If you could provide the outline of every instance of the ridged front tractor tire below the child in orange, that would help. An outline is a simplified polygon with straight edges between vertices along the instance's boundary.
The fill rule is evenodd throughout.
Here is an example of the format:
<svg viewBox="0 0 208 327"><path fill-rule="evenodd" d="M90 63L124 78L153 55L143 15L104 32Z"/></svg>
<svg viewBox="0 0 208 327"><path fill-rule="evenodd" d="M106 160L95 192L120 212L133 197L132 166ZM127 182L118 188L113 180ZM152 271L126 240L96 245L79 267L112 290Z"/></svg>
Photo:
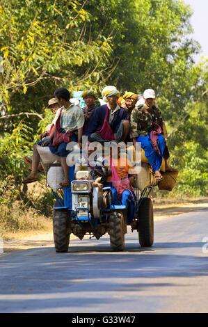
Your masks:
<svg viewBox="0 0 208 327"><path fill-rule="evenodd" d="M122 251L125 248L125 220L121 213L114 212L109 219L111 249Z"/></svg>

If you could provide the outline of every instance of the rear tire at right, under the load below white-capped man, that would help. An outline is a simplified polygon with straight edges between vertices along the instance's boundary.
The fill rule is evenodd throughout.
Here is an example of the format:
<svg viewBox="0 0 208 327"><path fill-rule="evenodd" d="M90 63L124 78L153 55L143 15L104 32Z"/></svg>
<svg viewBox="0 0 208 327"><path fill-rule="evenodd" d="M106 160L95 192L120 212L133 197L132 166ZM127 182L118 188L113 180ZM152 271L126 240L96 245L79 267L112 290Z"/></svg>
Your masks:
<svg viewBox="0 0 208 327"><path fill-rule="evenodd" d="M154 216L150 198L143 198L138 208L138 241L143 247L152 246L154 242Z"/></svg>

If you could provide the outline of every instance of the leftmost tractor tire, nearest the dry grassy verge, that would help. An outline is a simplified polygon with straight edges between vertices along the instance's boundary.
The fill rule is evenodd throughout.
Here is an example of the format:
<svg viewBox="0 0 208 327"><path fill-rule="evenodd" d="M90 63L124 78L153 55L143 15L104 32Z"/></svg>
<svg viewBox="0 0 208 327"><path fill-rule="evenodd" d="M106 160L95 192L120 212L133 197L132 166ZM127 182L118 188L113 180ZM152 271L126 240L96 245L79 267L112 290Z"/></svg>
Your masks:
<svg viewBox="0 0 208 327"><path fill-rule="evenodd" d="M70 243L70 216L67 210L55 210L53 214L54 245L56 252L67 252Z"/></svg>

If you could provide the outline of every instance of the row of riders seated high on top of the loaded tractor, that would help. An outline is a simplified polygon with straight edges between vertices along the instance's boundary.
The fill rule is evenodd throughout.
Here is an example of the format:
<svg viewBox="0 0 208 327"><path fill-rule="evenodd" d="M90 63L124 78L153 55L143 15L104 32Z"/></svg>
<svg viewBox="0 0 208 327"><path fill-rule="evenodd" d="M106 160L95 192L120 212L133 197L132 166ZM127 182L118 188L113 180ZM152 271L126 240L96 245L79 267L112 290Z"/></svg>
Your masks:
<svg viewBox="0 0 208 327"><path fill-rule="evenodd" d="M54 99L49 100L49 108L55 113L55 118L49 131L41 134L38 145L49 146L50 151L61 158L65 173L61 186L69 184L67 143L77 141L81 147L82 136L88 136L90 142L133 141L134 145L141 142L156 179L162 180L159 168L162 158L167 160L169 154L163 137L161 111L155 106L154 90L145 90L143 99L138 101L135 93L126 92L120 97L114 86L106 86L102 90L106 104L102 106L95 90L86 90L82 93L86 104L84 109L70 102L70 92L66 88L58 88L54 96ZM38 168L40 156L34 145L31 173L23 181L24 184L38 180Z"/></svg>

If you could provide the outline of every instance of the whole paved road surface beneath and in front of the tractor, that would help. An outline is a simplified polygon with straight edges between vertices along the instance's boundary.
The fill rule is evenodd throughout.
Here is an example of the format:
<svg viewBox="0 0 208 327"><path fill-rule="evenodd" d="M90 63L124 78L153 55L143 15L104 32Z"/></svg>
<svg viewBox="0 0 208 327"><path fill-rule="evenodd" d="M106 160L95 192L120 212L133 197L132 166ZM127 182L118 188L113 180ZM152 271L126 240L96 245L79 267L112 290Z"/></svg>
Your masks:
<svg viewBox="0 0 208 327"><path fill-rule="evenodd" d="M122 253L106 236L1 255L0 312L208 312L207 222L208 209L156 221L152 248L129 230Z"/></svg>

